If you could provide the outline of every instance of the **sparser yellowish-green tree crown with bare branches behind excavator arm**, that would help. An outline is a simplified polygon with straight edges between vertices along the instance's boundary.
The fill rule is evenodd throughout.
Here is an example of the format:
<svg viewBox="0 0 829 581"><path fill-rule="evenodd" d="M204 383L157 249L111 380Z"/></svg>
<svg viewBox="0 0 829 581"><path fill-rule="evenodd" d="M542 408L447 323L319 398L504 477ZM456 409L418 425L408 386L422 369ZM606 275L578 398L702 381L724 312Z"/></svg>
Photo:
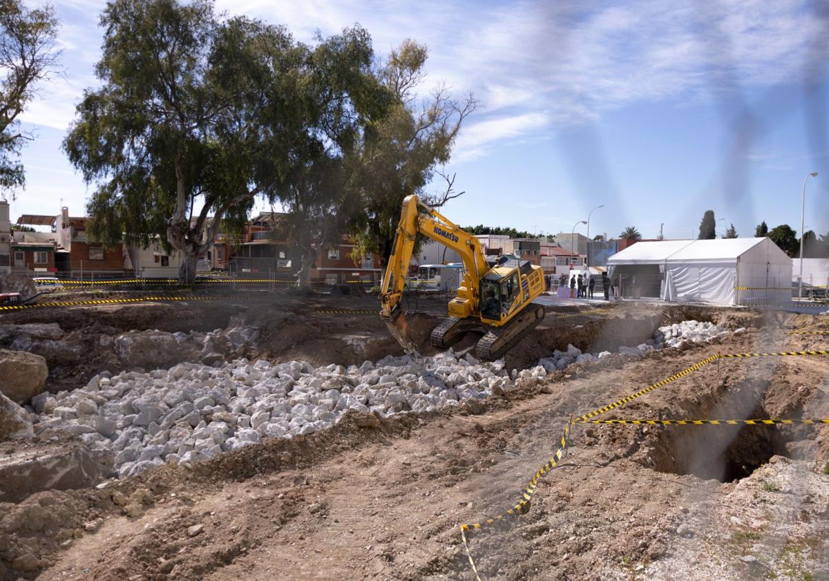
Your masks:
<svg viewBox="0 0 829 581"><path fill-rule="evenodd" d="M435 202L424 188L435 168L448 162L463 120L477 107L471 95L459 102L444 86L418 99L427 57L426 47L410 40L391 51L377 77L394 100L385 116L366 124L346 156L352 199L361 208L350 225L353 254L378 254L384 266L403 199L418 194L426 203Z"/></svg>

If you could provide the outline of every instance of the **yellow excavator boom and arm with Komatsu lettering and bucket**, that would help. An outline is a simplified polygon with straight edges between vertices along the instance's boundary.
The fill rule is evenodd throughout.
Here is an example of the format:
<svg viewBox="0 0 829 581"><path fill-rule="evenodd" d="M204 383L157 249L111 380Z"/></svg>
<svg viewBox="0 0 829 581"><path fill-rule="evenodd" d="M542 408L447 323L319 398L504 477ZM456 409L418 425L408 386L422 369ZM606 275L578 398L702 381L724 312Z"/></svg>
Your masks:
<svg viewBox="0 0 829 581"><path fill-rule="evenodd" d="M438 211L426 206L419 201L418 196L405 197L400 212L400 223L397 225L395 245L383 276L381 316L392 336L407 353L416 353L416 349L400 303L409 276L414 240L418 233L455 250L463 261L463 285L458 288L458 297L449 303L449 314L453 317L479 314L478 286L482 275L489 268L481 246L473 235L447 220Z"/></svg>

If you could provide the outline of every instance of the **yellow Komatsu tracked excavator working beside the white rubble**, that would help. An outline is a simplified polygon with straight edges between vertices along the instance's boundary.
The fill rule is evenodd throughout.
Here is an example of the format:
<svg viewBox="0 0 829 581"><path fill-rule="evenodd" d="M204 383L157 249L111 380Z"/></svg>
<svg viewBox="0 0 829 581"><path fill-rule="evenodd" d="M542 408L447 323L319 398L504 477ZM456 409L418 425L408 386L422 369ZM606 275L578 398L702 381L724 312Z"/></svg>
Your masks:
<svg viewBox="0 0 829 581"><path fill-rule="evenodd" d="M418 234L458 252L465 271L458 296L449 301L448 318L432 331L432 345L445 349L468 333L476 333L482 335L475 347L476 356L493 361L544 318L544 307L532 303L544 292L541 267L511 255L484 255L473 235L417 196L406 196L383 277L381 317L407 353L416 353L416 349L401 302Z"/></svg>

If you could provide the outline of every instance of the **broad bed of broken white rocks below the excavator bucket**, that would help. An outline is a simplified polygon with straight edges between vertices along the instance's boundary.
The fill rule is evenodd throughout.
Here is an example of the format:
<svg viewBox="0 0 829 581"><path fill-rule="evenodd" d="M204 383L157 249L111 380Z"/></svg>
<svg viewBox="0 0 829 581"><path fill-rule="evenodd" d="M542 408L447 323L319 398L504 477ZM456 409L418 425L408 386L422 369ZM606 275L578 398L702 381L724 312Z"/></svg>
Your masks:
<svg viewBox="0 0 829 581"><path fill-rule="evenodd" d="M240 343L242 341L239 341ZM522 377L543 377L538 366ZM349 409L388 416L485 399L511 380L504 361L478 362L450 349L434 357L385 357L361 366L237 359L169 370L102 373L78 390L32 399L35 431L76 433L114 454L120 476L164 462L194 462L261 438L328 428Z"/></svg>

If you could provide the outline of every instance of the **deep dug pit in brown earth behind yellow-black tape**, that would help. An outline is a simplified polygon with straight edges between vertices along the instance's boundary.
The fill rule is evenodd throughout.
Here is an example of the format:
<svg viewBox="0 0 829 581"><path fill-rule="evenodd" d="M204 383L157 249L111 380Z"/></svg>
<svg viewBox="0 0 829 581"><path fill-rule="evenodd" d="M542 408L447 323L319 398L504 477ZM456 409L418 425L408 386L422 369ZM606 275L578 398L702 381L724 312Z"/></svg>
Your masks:
<svg viewBox="0 0 829 581"><path fill-rule="evenodd" d="M727 380L715 395L698 403L680 402L683 419L770 419L764 400L768 380ZM670 426L657 430L647 463L657 472L693 474L703 480L734 482L751 475L773 456L791 458L784 430L777 425Z"/></svg>

